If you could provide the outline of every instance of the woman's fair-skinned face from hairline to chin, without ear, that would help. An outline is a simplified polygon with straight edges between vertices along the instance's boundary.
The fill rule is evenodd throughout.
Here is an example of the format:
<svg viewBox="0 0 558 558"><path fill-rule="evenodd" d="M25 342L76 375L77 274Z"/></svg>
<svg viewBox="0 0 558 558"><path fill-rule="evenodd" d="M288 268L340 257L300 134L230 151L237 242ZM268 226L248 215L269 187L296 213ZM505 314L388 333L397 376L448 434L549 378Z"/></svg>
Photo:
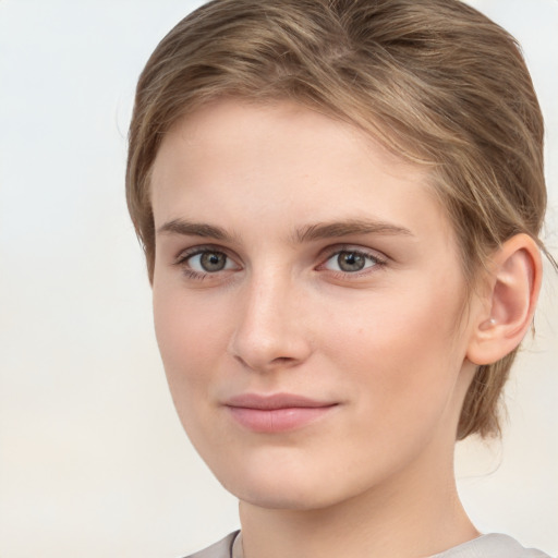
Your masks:
<svg viewBox="0 0 558 558"><path fill-rule="evenodd" d="M424 170L291 104L219 101L153 171L157 339L242 500L318 508L451 463L464 280Z"/></svg>

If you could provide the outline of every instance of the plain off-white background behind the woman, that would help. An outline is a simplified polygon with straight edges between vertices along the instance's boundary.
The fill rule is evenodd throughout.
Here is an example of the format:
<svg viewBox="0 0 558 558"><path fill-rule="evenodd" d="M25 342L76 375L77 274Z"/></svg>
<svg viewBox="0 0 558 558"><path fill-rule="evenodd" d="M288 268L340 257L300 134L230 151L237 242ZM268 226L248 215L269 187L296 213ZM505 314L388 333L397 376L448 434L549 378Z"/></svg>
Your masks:
<svg viewBox="0 0 558 558"><path fill-rule="evenodd" d="M171 558L238 526L174 415L124 204L137 75L199 2L0 0L0 556ZM558 246L558 1L476 0L523 45ZM549 270L548 266L547 269ZM549 270L550 271L550 270ZM458 448L483 531L558 554L558 277L504 440Z"/></svg>

